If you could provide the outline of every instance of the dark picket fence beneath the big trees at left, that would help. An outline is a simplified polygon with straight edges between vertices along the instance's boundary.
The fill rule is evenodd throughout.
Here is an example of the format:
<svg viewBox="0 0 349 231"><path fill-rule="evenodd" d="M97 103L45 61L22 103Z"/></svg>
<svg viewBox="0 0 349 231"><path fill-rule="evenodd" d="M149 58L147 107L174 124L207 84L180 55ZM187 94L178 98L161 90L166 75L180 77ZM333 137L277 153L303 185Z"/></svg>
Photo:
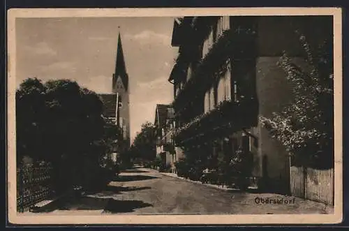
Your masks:
<svg viewBox="0 0 349 231"><path fill-rule="evenodd" d="M29 211L52 193L52 167L17 167L17 211Z"/></svg>

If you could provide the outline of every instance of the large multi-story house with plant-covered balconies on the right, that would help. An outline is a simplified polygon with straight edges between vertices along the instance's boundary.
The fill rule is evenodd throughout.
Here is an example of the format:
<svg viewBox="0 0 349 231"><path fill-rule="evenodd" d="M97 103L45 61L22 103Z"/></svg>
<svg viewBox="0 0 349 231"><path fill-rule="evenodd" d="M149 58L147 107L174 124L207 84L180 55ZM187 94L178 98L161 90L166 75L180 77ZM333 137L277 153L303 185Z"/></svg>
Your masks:
<svg viewBox="0 0 349 231"><path fill-rule="evenodd" d="M315 44L331 17L223 16L174 20L172 46L179 47L169 81L174 85L177 155L187 147L209 158L232 156L240 147L253 154L260 187L288 193L290 163L284 147L270 137L259 117L292 102L283 51L306 66L299 33Z"/></svg>

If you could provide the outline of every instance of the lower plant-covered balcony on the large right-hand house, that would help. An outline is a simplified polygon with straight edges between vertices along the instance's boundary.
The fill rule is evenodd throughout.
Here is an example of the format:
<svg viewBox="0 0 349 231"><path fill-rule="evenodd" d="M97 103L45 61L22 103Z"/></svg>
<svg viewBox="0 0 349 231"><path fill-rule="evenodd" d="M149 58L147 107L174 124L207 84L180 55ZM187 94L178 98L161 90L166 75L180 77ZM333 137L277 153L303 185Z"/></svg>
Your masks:
<svg viewBox="0 0 349 231"><path fill-rule="evenodd" d="M229 135L242 128L255 126L258 118L256 99L241 102L223 101L214 110L210 110L174 133L177 144L211 140L211 137Z"/></svg>

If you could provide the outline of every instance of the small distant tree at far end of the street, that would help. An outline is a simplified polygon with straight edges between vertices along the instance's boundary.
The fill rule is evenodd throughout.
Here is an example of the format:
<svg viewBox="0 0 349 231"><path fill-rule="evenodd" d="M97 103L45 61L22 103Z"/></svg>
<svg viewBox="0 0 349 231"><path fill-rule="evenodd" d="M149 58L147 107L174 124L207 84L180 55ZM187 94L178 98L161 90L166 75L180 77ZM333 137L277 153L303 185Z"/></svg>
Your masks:
<svg viewBox="0 0 349 231"><path fill-rule="evenodd" d="M155 126L148 121L142 124L142 129L136 135L131 146L133 158L142 158L146 161L154 160L156 156L155 129Z"/></svg>

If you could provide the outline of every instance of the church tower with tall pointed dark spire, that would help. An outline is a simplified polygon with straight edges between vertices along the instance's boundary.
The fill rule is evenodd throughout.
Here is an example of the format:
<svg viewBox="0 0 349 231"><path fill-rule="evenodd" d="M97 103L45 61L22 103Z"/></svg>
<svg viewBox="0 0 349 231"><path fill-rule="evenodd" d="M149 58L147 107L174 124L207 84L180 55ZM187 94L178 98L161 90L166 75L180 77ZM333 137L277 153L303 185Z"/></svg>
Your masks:
<svg viewBox="0 0 349 231"><path fill-rule="evenodd" d="M124 149L130 147L130 109L129 109L129 86L128 74L122 50L121 35L119 33L117 43L117 55L115 61L115 70L112 75L112 93L119 96L119 113L117 115L117 124L122 128L124 136Z"/></svg>

